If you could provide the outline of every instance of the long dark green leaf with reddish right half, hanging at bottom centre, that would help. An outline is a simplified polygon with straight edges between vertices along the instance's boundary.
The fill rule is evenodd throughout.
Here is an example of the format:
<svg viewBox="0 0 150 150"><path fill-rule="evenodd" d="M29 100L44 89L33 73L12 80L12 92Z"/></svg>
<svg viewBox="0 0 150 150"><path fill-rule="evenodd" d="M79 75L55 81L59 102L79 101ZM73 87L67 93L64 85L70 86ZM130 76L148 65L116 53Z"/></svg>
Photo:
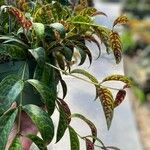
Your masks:
<svg viewBox="0 0 150 150"><path fill-rule="evenodd" d="M57 101L57 104L59 106L59 123L58 123L58 129L57 129L57 139L56 142L58 142L63 135L65 134L65 131L71 121L70 119L70 109L63 100Z"/></svg>

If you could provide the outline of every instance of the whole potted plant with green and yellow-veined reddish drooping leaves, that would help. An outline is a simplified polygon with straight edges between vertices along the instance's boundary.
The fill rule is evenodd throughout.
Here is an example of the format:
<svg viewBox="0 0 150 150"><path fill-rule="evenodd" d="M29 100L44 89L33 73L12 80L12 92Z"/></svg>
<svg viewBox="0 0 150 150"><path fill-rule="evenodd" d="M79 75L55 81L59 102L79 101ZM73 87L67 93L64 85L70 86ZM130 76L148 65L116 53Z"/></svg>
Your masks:
<svg viewBox="0 0 150 150"><path fill-rule="evenodd" d="M90 120L70 112L64 100L67 85L63 76L73 76L95 85L96 99L101 101L109 129L114 108L123 101L125 88L131 85L130 80L123 75L110 75L99 82L86 70L72 69L76 63L73 58L80 60L79 66L84 64L86 57L91 64L92 54L85 40L96 43L100 50L96 38L99 37L107 52L114 53L118 64L121 61L121 42L114 27L126 23L127 18L118 17L112 29L97 25L93 17L106 14L88 7L86 0L80 0L75 6L67 0L3 2L0 15L0 150L22 149L24 138L26 142L29 142L28 139L33 141L41 150L47 149L54 137L51 119L54 110L60 114L56 142L68 129L71 150L79 149L79 137L86 141L88 150L94 149L96 140L100 142L101 149L109 149L97 137L96 127ZM116 89L118 93L115 98L110 89L103 85L111 80L125 83L122 89ZM59 83L62 85L62 98L57 95ZM89 125L91 136L81 137L76 133L70 126L74 117ZM16 132L9 141L13 126ZM26 132L24 126L32 130ZM37 131L41 138L36 135Z"/></svg>

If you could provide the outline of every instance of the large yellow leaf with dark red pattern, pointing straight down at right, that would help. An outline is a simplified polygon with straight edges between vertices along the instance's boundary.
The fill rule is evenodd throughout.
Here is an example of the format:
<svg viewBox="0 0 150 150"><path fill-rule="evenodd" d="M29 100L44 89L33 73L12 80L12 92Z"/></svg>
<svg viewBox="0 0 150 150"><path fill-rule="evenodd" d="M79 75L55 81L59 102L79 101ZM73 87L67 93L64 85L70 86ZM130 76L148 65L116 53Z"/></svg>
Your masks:
<svg viewBox="0 0 150 150"><path fill-rule="evenodd" d="M114 100L112 93L107 88L98 88L99 99L106 118L107 128L109 130L114 113Z"/></svg>

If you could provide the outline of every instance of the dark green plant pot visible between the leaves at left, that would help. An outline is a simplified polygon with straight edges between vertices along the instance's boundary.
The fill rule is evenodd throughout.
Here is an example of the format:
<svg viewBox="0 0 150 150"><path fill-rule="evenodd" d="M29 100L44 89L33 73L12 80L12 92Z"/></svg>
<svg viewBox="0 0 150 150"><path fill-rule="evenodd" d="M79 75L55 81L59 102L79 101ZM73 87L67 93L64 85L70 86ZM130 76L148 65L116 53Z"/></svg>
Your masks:
<svg viewBox="0 0 150 150"><path fill-rule="evenodd" d="M10 61L4 64L0 64L0 81L4 79L7 75L18 74L19 69L24 65L25 61ZM34 61L28 62L29 66L29 78L33 78L33 72L35 69ZM38 106L43 105L40 95L34 90L30 84L26 84L22 92L23 101L22 105L35 104ZM19 101L19 97L16 101Z"/></svg>

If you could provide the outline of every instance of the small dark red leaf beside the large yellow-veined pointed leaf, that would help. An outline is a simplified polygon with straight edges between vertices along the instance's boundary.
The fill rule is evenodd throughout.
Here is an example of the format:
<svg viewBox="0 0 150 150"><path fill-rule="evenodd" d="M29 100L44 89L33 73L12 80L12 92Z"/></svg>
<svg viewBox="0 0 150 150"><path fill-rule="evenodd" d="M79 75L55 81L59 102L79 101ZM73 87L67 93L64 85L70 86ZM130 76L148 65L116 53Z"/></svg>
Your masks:
<svg viewBox="0 0 150 150"><path fill-rule="evenodd" d="M126 96L126 91L119 90L116 95L115 101L114 101L114 107L119 106L122 103L122 101L124 100L125 96Z"/></svg>

